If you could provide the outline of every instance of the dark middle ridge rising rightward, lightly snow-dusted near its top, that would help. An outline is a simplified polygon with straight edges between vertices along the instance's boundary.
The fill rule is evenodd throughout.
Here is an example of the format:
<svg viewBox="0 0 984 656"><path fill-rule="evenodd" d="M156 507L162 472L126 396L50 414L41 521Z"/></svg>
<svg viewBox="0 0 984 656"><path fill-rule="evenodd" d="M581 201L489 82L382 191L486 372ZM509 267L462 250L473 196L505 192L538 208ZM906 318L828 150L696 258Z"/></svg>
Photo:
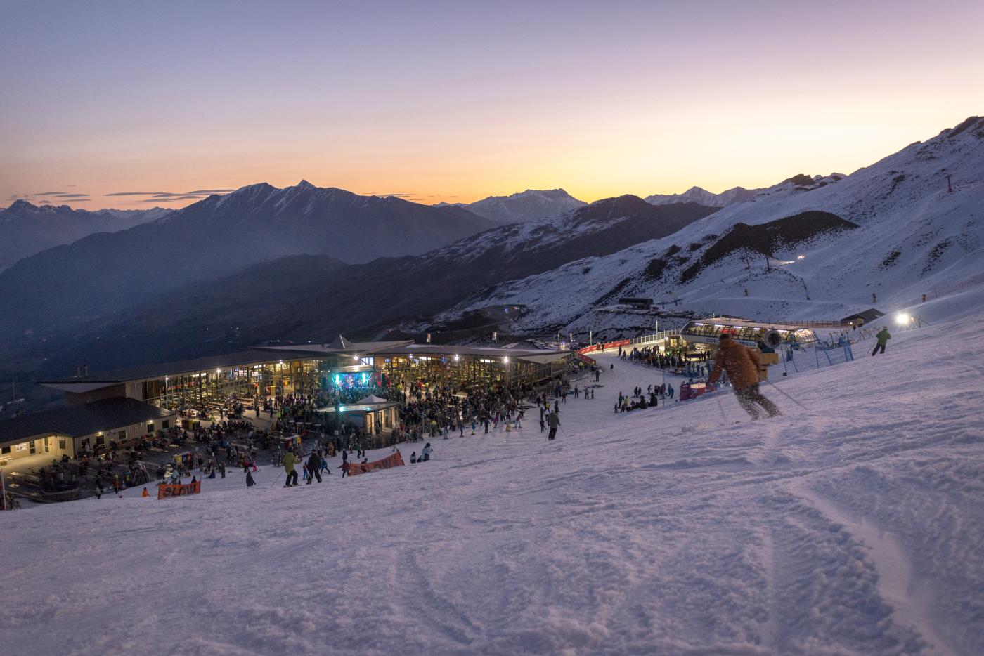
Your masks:
<svg viewBox="0 0 984 656"><path fill-rule="evenodd" d="M672 234L714 210L655 207L622 196L500 226L420 256L354 266L327 256L280 258L186 284L119 316L75 322L70 338L48 338L44 349L56 370L80 358L102 369L266 339L320 340L338 332L371 337L505 280ZM239 328L239 346L226 342L229 327Z"/></svg>

